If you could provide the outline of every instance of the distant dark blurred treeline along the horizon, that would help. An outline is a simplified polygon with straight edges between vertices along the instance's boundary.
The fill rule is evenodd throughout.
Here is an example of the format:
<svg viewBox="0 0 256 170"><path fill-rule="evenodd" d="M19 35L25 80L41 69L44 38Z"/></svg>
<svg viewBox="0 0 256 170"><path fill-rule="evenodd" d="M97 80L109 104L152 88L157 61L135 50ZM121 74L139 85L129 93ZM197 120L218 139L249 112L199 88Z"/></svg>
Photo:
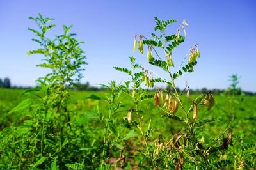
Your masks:
<svg viewBox="0 0 256 170"><path fill-rule="evenodd" d="M0 79L0 88L12 88L12 89L29 89L33 87L24 87L24 86L11 86L11 81L8 77L4 78L3 81ZM77 84L76 87L73 88L74 90L77 91L102 91L106 90L103 86L97 87L97 86L91 86L89 82L86 82L85 84ZM170 89L170 88L166 88ZM152 89L152 91L156 91L156 88ZM183 89L177 88L177 91L181 93ZM202 89L189 89L189 92L191 94L193 93L207 93L207 91L211 91L212 94L214 95L219 95L220 93L226 93L226 94L232 94L234 91L232 90L227 90L227 89L207 89L207 88L202 88ZM256 93L250 92L250 91L236 91L236 95L240 95L241 93L244 93L244 95L256 95Z"/></svg>

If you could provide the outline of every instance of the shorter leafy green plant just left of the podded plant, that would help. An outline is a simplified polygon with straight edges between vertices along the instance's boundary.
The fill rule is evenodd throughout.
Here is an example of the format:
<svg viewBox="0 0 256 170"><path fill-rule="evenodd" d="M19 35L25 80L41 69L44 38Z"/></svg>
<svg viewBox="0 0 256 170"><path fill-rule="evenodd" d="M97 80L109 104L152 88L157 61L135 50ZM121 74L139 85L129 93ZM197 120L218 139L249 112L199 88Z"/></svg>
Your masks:
<svg viewBox="0 0 256 170"><path fill-rule="evenodd" d="M90 120L99 123L97 131L99 131L100 138L97 144L94 144L94 147L97 148L95 155L98 156L97 160L95 160L94 167L98 169L109 169L111 168L109 161L111 158L115 158L116 155L119 155L119 158L116 160L115 166L118 166L118 164L124 166L125 155L123 152L125 146L123 143L135 137L137 134L134 130L125 130L124 127L128 123L120 119L120 114L129 111L128 109L124 109L125 105L120 100L124 86L116 84L115 81L111 81L107 85L102 84L102 86L108 91L104 97L91 95L86 99L100 100L108 105L108 109L97 106L95 111L86 112L86 116Z"/></svg>

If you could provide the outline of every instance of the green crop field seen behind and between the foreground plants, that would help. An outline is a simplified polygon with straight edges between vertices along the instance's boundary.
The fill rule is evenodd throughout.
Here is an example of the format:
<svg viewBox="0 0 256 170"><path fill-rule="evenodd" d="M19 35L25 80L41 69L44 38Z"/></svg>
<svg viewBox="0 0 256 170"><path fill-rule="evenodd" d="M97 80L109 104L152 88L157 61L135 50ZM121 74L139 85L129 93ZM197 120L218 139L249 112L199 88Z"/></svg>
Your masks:
<svg viewBox="0 0 256 170"><path fill-rule="evenodd" d="M1 147L5 149L5 153L8 154L8 161L4 160L3 158L6 158L6 155L2 155L1 157L1 167L4 168L6 166L15 167L16 159L15 155L13 155L12 150L8 150L8 148L12 148L12 146L16 146L15 150L19 150L19 145L16 145L15 143L9 143L8 139L10 139L11 136L8 136L8 129L17 130L17 134L23 133L22 129L19 130L18 127L20 124L24 123L26 120L29 120L29 114L28 112L24 111L18 111L13 113L8 113L15 107L17 104L22 102L24 98L28 97L26 95L22 95L24 90L22 89L0 89L0 112L1 112ZM81 143L77 144L76 148L72 148L72 150L69 150L70 152L74 152L79 157L74 160L70 160L68 157L69 155L63 155L61 157L61 160L65 160L69 163L74 162L83 162L83 159L86 160L86 156L92 156L97 157L97 152L100 152L102 148L98 148L99 145L103 142L103 134L104 130L101 128L102 125L100 125L99 122L95 121L94 118L92 118L92 115L88 115L88 112L95 112L99 111L100 114L103 114L105 116L108 115L108 104L107 102L102 102L101 100L92 100L92 99L86 99L87 97L90 97L90 95L97 95L98 97L104 97L105 94L108 94L109 91L99 91L99 92L91 92L91 91L72 91L70 93L70 104L68 104L68 107L70 107L70 111L72 111L72 114L70 114L70 122L75 127L79 127L78 129L73 129L74 133L79 136L78 141ZM148 94L152 94L152 92L149 92ZM124 94L123 94L124 95ZM194 95L192 95L193 97ZM189 105L189 101L185 96L182 96L182 100L184 100L184 103L186 107ZM256 134L256 115L255 115L255 103L256 103L256 97L251 96L237 96L234 98L230 98L227 95L215 95L216 104L211 109L211 111L207 111L205 107L200 108L200 114L198 116L198 121L202 120L212 120L212 123L209 123L205 125L202 129L200 129L200 140L202 143L211 143L211 140L214 139L217 135L220 136L220 143L222 140L221 133L223 130L225 130L228 127L228 123L230 123L230 120L232 122L230 123L229 128L232 129L232 144L233 146L228 146L228 151L225 151L228 155L228 158L232 158L234 160L237 160L237 162L244 161L244 164L246 162L251 161L253 164L255 163L255 134ZM231 102L233 100L234 102ZM126 95L120 97L119 99L122 104L129 107L129 105L132 105L132 102L129 100L129 97ZM231 105L234 104L234 105ZM99 108L100 107L100 108ZM159 139L160 135L164 135L165 138L172 137L173 134L176 134L179 132L179 130L182 130L182 128L185 128L185 124L178 121L170 119L166 116L166 114L159 110L157 107L155 107L153 99L147 99L141 102L141 109L144 110L143 114L143 128L145 128L145 131L147 131L148 123L151 121L150 127L152 127L152 136L150 137L149 141L154 146L154 142ZM121 109L122 110L122 109ZM125 110L125 109L124 109ZM119 112L114 116L114 120L119 123L124 123L124 127L122 128L122 131L118 132L118 135L124 136L125 134L129 133L130 130L134 129L129 123L125 122L127 121L124 119L127 116L127 111ZM178 111L177 116L182 116L182 112ZM136 120L136 118L133 118ZM4 129L5 128L5 129ZM4 130L3 130L4 129ZM125 161L125 164L129 164L129 167L136 167L136 168L142 168L140 167L140 161L138 158L134 157L136 155L136 149L138 146L141 146L143 141L141 141L141 138L138 136L140 132L135 129L135 135L131 139L128 139L127 141L123 141L122 143L119 143L120 145L124 146L124 155L127 157L127 160ZM10 135L10 134L9 134ZM84 139L83 139L84 138ZM24 139L23 139L24 140ZM69 139L70 140L70 139ZM68 144L72 143L72 141L68 140ZM4 143L3 141L6 141ZM83 142L82 142L83 141ZM19 141L16 141L17 143ZM52 141L52 143L54 143ZM67 145L68 145L67 144ZM71 149L71 148L70 148ZM9 153L8 153L9 152ZM67 153L68 154L68 153ZM83 155L81 157L81 155ZM118 160L120 156L120 151L116 148L112 148L111 151L109 151L108 160L109 164L112 164L115 166L116 160ZM22 154L19 156L20 158L23 158L26 160L26 157L23 157ZM219 155L219 159L221 160L222 155ZM93 160L92 160L93 161ZM97 165L97 160L93 162L95 165ZM77 164L78 165L78 164ZM17 167L19 167L17 165ZM89 166L88 166L89 167ZM232 165L230 167L234 167L234 161L232 161ZM95 167L90 167L95 168ZM147 168L147 167L145 167Z"/></svg>

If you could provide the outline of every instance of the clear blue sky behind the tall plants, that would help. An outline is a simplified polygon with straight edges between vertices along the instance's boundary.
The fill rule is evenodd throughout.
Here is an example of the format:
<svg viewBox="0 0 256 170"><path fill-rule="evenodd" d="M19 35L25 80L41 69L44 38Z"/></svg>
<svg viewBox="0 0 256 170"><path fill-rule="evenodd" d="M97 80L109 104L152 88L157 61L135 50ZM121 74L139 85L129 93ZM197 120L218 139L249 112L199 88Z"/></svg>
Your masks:
<svg viewBox="0 0 256 170"><path fill-rule="evenodd" d="M201 57L195 72L177 81L183 88L227 88L229 76L241 76L239 86L256 92L256 1L5 1L0 0L0 78L10 77L12 85L35 86L35 79L47 73L37 68L42 56L27 56L36 49L31 41L35 36L28 27L36 24L28 17L38 12L53 17L57 27L53 33L62 33L62 24L73 25L72 32L84 41L86 71L82 82L106 83L111 79L120 82L126 77L113 66L129 67L128 56L135 56L141 65L159 69L147 63L147 57L132 54L134 33L149 36L153 33L154 17L177 19L175 31L186 19L186 41L173 52L179 66L189 47L199 44ZM177 70L177 68L175 69Z"/></svg>

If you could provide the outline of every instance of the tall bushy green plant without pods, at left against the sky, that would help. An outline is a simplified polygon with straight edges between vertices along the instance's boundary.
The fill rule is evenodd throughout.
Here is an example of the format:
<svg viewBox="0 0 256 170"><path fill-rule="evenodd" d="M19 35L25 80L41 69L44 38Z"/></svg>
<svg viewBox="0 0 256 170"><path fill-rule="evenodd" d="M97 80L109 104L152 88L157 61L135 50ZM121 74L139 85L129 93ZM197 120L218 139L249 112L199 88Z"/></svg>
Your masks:
<svg viewBox="0 0 256 170"><path fill-rule="evenodd" d="M47 32L55 27L49 24L52 20L47 17L29 17L36 22L39 30L31 29L36 38L32 40L40 45L40 48L31 50L28 54L43 54L42 63L37 65L49 68L50 73L36 80L40 84L39 88L29 89L24 92L30 97L17 105L10 113L21 109L31 108L26 114L26 120L18 129L17 138L25 138L17 144L22 146L22 150L15 150L15 144L11 147L15 155L10 155L13 162L10 164L19 165L19 168L28 166L41 167L45 169L52 164L67 162L75 155L70 155L70 148L76 147L74 142L76 134L72 131L70 123L70 111L68 101L70 88L75 86L81 79L83 65L86 64L84 51L74 36L69 33L72 26L63 26L64 33L56 35L53 39L47 37ZM26 128L24 128L26 127ZM75 144L75 145L74 145ZM25 149L27 147L27 149ZM8 151L12 153L12 151ZM66 159L66 160L65 160ZM53 162L55 160L55 162Z"/></svg>

